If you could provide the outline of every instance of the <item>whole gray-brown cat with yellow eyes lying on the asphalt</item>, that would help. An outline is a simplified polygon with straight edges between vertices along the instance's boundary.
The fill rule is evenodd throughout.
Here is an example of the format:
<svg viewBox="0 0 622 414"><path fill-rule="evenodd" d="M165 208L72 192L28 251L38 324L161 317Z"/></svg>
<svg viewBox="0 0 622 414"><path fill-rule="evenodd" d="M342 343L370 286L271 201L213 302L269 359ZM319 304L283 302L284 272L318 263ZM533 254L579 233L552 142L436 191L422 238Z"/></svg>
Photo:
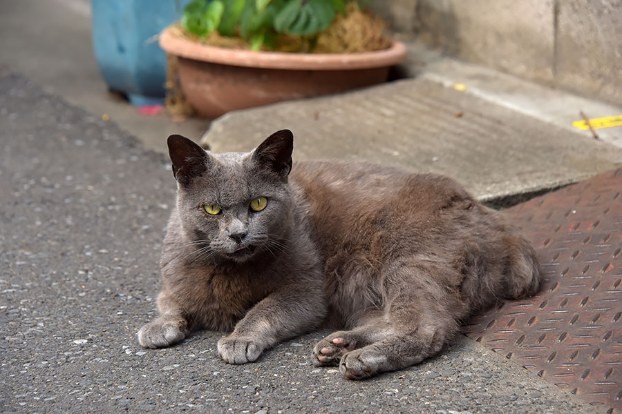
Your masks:
<svg viewBox="0 0 622 414"><path fill-rule="evenodd" d="M292 168L289 130L248 153L213 154L180 135L168 145L178 198L144 347L233 329L218 353L245 364L329 324L342 331L315 346L313 364L360 380L435 355L473 311L538 290L528 242L452 179Z"/></svg>

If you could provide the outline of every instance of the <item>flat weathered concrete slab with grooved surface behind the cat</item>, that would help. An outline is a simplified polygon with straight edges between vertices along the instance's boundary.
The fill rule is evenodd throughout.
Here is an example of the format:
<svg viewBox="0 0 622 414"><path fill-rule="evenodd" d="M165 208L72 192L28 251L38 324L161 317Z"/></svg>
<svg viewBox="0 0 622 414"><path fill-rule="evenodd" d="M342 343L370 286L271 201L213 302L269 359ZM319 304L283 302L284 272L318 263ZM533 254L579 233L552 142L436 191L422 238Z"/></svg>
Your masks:
<svg viewBox="0 0 622 414"><path fill-rule="evenodd" d="M343 95L230 112L211 124L202 143L216 152L244 151L289 128L296 159L359 159L436 172L458 179L483 201L557 188L622 163L622 148L612 142L425 73Z"/></svg>

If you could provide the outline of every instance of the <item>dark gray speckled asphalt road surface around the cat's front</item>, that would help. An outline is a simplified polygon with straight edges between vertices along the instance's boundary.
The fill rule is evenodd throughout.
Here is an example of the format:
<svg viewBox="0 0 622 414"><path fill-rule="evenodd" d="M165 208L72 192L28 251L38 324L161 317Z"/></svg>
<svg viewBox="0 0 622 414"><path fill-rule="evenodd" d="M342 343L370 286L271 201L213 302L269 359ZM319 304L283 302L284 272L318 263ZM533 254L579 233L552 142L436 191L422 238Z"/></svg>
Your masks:
<svg viewBox="0 0 622 414"><path fill-rule="evenodd" d="M0 413L591 413L480 344L365 382L310 363L328 332L227 365L224 333L140 348L176 184L117 126L0 70ZM166 137L162 137L165 139Z"/></svg>

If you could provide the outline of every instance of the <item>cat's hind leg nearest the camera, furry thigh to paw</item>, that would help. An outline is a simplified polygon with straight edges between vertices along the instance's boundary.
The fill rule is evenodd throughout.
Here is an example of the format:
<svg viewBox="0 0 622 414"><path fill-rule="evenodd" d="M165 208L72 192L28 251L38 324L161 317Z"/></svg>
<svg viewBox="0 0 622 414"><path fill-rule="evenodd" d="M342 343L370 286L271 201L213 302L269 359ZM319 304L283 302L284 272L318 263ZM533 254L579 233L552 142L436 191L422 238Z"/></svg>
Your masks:
<svg viewBox="0 0 622 414"><path fill-rule="evenodd" d="M438 353L458 331L451 306L460 307L460 300L446 299L441 304L423 295L397 297L386 309L390 322L384 337L345 353L339 371L350 380L362 380L419 364Z"/></svg>

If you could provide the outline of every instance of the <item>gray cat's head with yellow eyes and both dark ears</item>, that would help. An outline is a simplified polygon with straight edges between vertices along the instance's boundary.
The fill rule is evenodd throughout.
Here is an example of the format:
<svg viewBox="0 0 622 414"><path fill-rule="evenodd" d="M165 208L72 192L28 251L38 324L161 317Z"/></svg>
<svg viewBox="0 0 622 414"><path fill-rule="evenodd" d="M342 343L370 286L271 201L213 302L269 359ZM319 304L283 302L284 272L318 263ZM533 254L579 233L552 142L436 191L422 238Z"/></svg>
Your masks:
<svg viewBox="0 0 622 414"><path fill-rule="evenodd" d="M181 135L169 137L191 258L239 263L287 248L293 142L290 130L280 130L251 152L214 154Z"/></svg>

